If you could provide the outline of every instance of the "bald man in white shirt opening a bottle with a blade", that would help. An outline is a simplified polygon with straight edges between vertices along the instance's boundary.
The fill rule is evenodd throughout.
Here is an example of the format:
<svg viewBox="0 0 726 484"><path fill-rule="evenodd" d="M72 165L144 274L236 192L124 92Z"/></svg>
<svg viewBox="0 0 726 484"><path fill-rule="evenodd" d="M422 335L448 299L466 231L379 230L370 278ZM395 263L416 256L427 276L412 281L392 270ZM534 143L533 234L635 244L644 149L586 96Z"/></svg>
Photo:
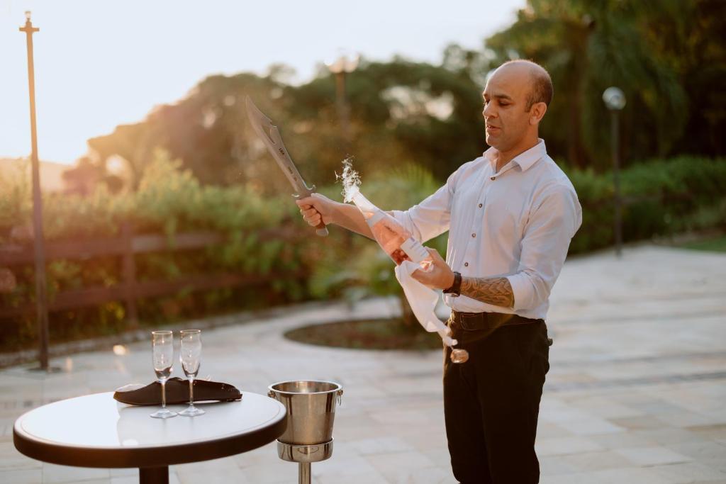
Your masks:
<svg viewBox="0 0 726 484"><path fill-rule="evenodd" d="M444 419L461 483L539 482L537 414L549 369L544 318L582 210L567 176L547 156L539 123L552 81L534 62L500 66L486 83L484 156L462 165L436 193L391 212L418 239L449 230L446 261L431 250L423 284L444 290L449 327L465 364L444 359ZM314 195L303 218L371 237L352 205Z"/></svg>

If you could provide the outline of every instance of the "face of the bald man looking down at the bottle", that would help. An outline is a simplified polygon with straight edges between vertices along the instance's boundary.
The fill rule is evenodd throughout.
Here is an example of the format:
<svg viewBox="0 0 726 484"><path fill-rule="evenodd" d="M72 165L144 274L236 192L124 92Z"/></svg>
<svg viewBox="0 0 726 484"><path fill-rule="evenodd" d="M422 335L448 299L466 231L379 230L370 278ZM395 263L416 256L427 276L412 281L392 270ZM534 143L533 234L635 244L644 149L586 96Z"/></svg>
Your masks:
<svg viewBox="0 0 726 484"><path fill-rule="evenodd" d="M526 112L531 87L529 73L516 65L499 67L484 88L486 144L506 152L522 141L529 129Z"/></svg>

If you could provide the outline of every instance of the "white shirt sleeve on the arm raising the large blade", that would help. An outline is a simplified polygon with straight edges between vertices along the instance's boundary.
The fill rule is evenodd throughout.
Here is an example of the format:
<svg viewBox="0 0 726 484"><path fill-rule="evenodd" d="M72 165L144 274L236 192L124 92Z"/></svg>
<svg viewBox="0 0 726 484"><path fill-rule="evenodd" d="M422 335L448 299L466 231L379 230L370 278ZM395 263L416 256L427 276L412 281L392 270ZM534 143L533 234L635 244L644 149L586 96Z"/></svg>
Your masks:
<svg viewBox="0 0 726 484"><path fill-rule="evenodd" d="M396 218L419 242L426 242L449 230L451 222L452 200L456 189L459 173L463 165L449 176L446 184L429 195L423 202L408 210L392 210Z"/></svg>

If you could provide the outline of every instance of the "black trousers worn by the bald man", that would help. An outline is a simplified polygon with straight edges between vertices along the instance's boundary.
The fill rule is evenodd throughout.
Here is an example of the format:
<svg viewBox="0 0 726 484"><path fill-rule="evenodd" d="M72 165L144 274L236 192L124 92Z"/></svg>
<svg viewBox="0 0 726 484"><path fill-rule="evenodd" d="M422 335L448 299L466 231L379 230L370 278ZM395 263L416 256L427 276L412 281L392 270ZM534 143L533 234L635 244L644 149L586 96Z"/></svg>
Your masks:
<svg viewBox="0 0 726 484"><path fill-rule="evenodd" d="M449 319L457 348L444 351L444 419L454 477L462 484L539 483L534 453L544 375L550 369L547 326L477 327Z"/></svg>

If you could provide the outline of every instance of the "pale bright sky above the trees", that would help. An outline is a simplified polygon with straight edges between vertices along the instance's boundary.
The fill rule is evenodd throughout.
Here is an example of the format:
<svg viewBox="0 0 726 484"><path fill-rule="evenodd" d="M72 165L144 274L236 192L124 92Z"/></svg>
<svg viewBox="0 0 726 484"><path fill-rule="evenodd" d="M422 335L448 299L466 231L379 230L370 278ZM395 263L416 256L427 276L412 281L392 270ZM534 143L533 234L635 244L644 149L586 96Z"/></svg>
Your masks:
<svg viewBox="0 0 726 484"><path fill-rule="evenodd" d="M136 123L208 75L295 69L340 52L438 63L479 49L525 0L0 0L0 158L30 154L25 11L32 12L38 155L73 163L86 140Z"/></svg>

